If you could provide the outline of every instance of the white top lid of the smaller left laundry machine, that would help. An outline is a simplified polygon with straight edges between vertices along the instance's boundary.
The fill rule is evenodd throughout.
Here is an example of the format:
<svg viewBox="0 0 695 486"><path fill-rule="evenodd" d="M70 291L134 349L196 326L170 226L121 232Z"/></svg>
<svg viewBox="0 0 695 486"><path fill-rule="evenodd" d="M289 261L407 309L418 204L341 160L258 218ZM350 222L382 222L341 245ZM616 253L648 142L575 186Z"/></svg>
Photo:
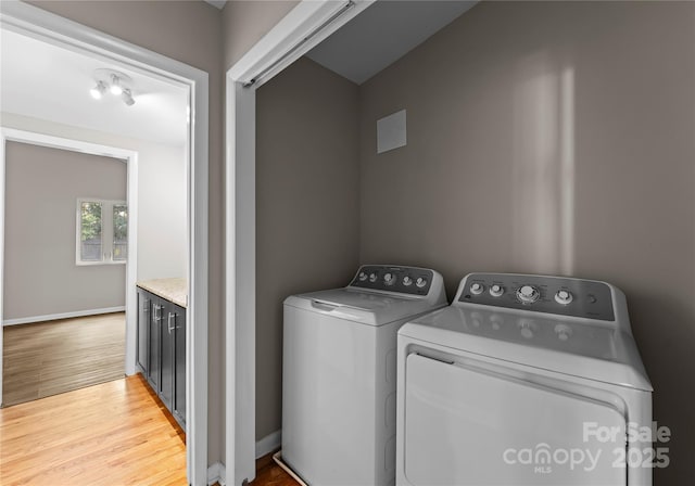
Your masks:
<svg viewBox="0 0 695 486"><path fill-rule="evenodd" d="M433 306L422 297L396 296L346 287L292 295L285 299L285 305L363 324L383 325L400 319L414 318L446 303Z"/></svg>

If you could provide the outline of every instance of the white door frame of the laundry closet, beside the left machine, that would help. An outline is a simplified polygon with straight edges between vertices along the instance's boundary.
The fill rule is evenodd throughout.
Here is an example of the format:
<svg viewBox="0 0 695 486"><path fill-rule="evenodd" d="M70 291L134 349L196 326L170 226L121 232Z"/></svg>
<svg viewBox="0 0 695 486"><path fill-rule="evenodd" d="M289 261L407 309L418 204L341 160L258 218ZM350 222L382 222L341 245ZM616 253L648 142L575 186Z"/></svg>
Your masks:
<svg viewBox="0 0 695 486"><path fill-rule="evenodd" d="M229 486L255 477L256 89L374 1L302 0L226 74L225 475Z"/></svg>

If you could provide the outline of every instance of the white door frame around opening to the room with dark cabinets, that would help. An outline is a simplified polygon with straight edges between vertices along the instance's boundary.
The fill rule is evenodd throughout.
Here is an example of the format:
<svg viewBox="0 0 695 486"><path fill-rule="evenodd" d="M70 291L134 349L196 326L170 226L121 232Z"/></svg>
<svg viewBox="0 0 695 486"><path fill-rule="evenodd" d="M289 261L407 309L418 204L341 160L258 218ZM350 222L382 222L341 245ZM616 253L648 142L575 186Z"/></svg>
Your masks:
<svg viewBox="0 0 695 486"><path fill-rule="evenodd" d="M18 1L0 5L0 26L62 48L127 66L189 88L187 153L188 325L187 434L188 482L207 484L207 293L208 293L208 75L182 62ZM4 170L0 174L4 201ZM4 215L4 213L3 213ZM4 218L0 218L1 235ZM3 239L0 239L2 241ZM0 263L3 246L0 243ZM0 268L2 266L0 265ZM2 277L0 269L0 278ZM135 293L135 289L132 289ZM0 293L1 294L1 293ZM132 298L131 298L132 302ZM130 303L127 303L128 305ZM0 316L2 315L0 295ZM132 316L137 314L132 312ZM1 348L0 348L1 349ZM131 358L135 358L132 354ZM1 360L0 360L1 362ZM0 370L1 371L1 370ZM135 371L135 362L132 371ZM1 374L0 374L1 376ZM0 379L1 380L1 379Z"/></svg>

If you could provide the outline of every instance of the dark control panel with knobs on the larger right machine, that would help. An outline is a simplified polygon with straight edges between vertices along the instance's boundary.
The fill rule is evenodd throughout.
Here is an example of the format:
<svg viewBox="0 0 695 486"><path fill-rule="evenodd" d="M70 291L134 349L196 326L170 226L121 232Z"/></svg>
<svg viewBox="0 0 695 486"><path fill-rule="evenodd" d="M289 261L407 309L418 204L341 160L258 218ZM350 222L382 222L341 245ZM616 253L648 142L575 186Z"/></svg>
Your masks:
<svg viewBox="0 0 695 486"><path fill-rule="evenodd" d="M458 294L460 303L615 320L610 286L594 280L471 273L462 282Z"/></svg>

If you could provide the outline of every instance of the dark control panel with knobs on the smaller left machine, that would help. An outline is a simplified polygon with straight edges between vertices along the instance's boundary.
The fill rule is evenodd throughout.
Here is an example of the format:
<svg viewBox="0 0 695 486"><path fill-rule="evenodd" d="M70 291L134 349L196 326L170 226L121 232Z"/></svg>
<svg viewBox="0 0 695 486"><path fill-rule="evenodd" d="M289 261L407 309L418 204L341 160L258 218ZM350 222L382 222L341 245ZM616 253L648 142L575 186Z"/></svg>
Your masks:
<svg viewBox="0 0 695 486"><path fill-rule="evenodd" d="M365 265L359 268L350 286L427 295L433 277L432 270L425 268Z"/></svg>

